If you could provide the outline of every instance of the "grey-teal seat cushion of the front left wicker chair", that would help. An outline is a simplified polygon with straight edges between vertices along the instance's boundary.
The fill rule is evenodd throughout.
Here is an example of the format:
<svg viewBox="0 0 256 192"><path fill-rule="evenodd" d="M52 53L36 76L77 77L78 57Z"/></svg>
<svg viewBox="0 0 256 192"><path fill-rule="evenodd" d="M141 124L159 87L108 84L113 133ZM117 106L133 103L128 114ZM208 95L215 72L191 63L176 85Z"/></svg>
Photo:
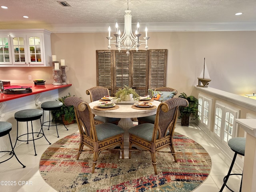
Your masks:
<svg viewBox="0 0 256 192"><path fill-rule="evenodd" d="M112 123L102 123L95 126L99 141L124 133L124 130Z"/></svg>

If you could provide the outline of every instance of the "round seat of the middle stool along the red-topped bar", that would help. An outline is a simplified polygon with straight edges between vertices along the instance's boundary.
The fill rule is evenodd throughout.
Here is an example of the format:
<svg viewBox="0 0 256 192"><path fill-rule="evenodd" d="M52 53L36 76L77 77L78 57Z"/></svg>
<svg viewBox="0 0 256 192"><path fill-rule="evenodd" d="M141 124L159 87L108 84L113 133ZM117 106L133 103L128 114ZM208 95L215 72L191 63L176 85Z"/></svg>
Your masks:
<svg viewBox="0 0 256 192"><path fill-rule="evenodd" d="M17 121L32 121L39 119L43 115L43 111L40 109L24 109L17 111L14 114L14 118Z"/></svg>

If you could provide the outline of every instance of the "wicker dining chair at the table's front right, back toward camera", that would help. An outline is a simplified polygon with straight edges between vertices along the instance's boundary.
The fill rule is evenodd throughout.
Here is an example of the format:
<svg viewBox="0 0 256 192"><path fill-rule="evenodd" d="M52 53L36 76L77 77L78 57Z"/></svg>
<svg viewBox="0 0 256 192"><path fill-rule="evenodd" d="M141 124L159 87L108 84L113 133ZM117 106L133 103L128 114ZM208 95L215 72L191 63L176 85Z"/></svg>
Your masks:
<svg viewBox="0 0 256 192"><path fill-rule="evenodd" d="M170 154L174 156L174 160L177 162L173 145L173 134L179 106L188 106L188 101L183 98L166 100L158 106L154 124L139 124L128 130L129 158L131 158L132 150L137 150L132 147L133 145L149 151L152 156L152 164L156 175L156 152L159 150L170 147Z"/></svg>

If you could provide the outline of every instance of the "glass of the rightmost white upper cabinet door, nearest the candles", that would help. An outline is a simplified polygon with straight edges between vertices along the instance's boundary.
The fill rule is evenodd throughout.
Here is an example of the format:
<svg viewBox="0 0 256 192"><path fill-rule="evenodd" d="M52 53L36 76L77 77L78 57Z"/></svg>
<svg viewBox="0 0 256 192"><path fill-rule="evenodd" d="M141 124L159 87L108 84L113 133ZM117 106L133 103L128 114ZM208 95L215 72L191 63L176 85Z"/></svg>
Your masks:
<svg viewBox="0 0 256 192"><path fill-rule="evenodd" d="M30 61L42 62L40 37L29 37Z"/></svg>

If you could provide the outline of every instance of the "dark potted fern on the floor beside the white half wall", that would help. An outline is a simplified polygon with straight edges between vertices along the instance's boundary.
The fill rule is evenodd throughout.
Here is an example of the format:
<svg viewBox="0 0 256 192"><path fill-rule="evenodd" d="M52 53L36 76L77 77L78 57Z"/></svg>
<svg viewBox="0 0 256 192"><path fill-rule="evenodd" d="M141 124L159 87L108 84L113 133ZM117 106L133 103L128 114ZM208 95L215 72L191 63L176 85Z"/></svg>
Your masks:
<svg viewBox="0 0 256 192"><path fill-rule="evenodd" d="M190 116L192 120L197 119L198 116L198 99L194 96L187 96L184 92L180 94L180 98L184 98L188 100L187 107L179 107L180 116L178 118L181 119L181 126L188 126Z"/></svg>

